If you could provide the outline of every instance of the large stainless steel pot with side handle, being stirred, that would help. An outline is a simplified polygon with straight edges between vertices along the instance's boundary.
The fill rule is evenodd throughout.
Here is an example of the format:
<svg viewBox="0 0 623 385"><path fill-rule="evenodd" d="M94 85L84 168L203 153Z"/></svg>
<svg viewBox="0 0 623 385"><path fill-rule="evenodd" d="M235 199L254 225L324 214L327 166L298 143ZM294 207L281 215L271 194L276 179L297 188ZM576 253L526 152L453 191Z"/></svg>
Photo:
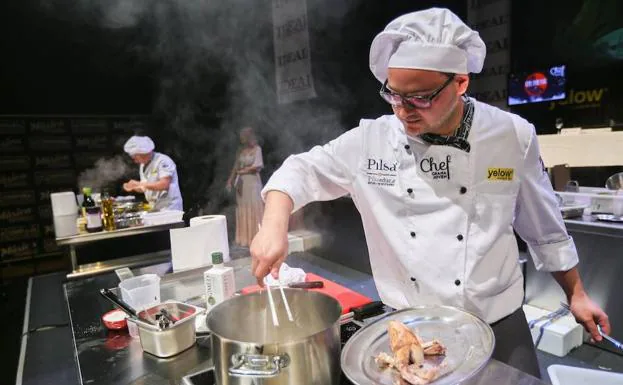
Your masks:
<svg viewBox="0 0 623 385"><path fill-rule="evenodd" d="M332 385L340 380L341 306L316 292L284 289L273 298L280 326L273 326L266 291L229 299L207 317L218 385Z"/></svg>

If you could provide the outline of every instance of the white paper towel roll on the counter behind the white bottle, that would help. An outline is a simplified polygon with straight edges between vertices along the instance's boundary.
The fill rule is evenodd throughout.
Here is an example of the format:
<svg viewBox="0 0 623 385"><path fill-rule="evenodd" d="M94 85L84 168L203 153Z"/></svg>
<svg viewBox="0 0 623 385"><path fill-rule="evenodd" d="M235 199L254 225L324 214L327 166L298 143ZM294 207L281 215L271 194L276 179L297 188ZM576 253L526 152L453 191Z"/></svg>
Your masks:
<svg viewBox="0 0 623 385"><path fill-rule="evenodd" d="M229 258L227 218L224 215L204 215L190 219L190 227L171 229L173 271L194 269L212 264L212 253Z"/></svg>

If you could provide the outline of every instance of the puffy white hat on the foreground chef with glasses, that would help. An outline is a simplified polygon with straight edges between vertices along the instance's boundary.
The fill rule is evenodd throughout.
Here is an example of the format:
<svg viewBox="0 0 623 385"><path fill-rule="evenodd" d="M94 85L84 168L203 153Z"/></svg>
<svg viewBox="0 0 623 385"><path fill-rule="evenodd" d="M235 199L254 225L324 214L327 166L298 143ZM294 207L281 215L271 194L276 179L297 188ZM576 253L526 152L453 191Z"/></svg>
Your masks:
<svg viewBox="0 0 623 385"><path fill-rule="evenodd" d="M478 73L486 53L478 32L452 11L430 8L402 15L376 35L370 47L370 70L381 83L387 79L387 68Z"/></svg>

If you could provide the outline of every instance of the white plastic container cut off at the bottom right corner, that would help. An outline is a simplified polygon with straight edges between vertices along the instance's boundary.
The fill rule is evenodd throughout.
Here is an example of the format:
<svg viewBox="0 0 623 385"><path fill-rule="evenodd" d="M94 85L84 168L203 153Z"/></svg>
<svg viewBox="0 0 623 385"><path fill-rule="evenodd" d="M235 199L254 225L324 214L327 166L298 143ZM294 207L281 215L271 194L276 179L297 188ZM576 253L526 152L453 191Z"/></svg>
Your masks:
<svg viewBox="0 0 623 385"><path fill-rule="evenodd" d="M552 385L621 385L623 373L605 370L576 368L566 365L550 365L547 368Z"/></svg>

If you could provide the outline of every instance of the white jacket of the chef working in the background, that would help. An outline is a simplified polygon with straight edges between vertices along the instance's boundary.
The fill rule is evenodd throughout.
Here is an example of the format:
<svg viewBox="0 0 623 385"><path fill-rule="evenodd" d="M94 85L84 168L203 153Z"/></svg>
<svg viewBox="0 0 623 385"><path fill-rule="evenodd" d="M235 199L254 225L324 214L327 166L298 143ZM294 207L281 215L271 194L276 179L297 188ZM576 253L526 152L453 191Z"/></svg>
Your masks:
<svg viewBox="0 0 623 385"><path fill-rule="evenodd" d="M177 168L171 158L159 152L154 152L151 161L147 165L141 164L139 174L141 182L157 182L164 177L171 177L171 183L167 191L145 191L145 199L153 205L155 210L184 210L182 193L180 192L177 179Z"/></svg>

